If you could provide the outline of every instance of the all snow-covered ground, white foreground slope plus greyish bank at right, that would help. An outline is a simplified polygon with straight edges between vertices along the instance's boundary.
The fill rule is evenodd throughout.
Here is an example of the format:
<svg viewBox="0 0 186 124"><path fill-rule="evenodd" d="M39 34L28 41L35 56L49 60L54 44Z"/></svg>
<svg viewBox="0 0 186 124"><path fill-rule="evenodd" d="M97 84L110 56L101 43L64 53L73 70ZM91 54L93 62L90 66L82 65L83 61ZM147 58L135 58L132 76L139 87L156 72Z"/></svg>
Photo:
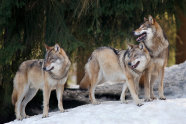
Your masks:
<svg viewBox="0 0 186 124"><path fill-rule="evenodd" d="M35 115L9 124L186 124L186 62L165 69L165 101L154 100L137 107L106 101L83 105L65 113L50 112L48 118ZM155 94L157 94L157 84Z"/></svg>

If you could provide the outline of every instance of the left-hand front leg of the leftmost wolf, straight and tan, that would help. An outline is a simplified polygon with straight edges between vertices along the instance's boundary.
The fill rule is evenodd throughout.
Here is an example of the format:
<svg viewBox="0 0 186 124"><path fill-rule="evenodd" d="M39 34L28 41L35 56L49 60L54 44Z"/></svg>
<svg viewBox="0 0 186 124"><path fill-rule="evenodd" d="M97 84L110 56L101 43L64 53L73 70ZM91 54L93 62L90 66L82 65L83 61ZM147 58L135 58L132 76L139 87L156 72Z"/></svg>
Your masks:
<svg viewBox="0 0 186 124"><path fill-rule="evenodd" d="M49 110L49 98L51 94L51 89L49 88L48 84L45 82L44 90L43 90L43 118L48 117L48 110Z"/></svg>

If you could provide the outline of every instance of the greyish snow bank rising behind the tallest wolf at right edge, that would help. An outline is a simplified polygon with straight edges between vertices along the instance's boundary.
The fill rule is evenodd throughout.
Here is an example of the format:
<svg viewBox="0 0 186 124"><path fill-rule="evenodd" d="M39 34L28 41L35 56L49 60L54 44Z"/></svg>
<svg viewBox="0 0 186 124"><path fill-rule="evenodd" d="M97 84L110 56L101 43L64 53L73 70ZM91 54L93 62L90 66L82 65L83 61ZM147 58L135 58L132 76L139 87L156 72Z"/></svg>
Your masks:
<svg viewBox="0 0 186 124"><path fill-rule="evenodd" d="M165 69L164 84L167 98L186 98L186 61Z"/></svg>

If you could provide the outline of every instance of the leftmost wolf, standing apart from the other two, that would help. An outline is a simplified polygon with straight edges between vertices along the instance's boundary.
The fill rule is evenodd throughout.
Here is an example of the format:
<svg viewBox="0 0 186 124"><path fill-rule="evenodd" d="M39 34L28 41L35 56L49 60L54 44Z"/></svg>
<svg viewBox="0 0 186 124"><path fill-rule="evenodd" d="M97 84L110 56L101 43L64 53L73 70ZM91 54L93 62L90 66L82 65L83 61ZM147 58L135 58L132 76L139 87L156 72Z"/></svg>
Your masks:
<svg viewBox="0 0 186 124"><path fill-rule="evenodd" d="M15 105L16 118L26 118L25 107L39 89L43 90L43 117L48 116L49 98L56 89L58 108L64 111L62 95L71 65L65 51L58 44L45 45L45 59L24 61L14 77L12 103Z"/></svg>

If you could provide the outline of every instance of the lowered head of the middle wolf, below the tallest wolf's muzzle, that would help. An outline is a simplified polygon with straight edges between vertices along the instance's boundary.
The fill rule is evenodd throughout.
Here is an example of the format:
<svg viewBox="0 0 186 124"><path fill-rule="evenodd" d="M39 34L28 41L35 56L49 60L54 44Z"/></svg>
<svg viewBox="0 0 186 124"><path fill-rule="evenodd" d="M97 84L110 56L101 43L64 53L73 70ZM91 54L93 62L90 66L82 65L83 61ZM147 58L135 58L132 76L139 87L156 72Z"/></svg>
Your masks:
<svg viewBox="0 0 186 124"><path fill-rule="evenodd" d="M132 70L143 72L150 61L150 54L144 43L140 43L139 45L129 44L125 61L126 65L128 65Z"/></svg>

